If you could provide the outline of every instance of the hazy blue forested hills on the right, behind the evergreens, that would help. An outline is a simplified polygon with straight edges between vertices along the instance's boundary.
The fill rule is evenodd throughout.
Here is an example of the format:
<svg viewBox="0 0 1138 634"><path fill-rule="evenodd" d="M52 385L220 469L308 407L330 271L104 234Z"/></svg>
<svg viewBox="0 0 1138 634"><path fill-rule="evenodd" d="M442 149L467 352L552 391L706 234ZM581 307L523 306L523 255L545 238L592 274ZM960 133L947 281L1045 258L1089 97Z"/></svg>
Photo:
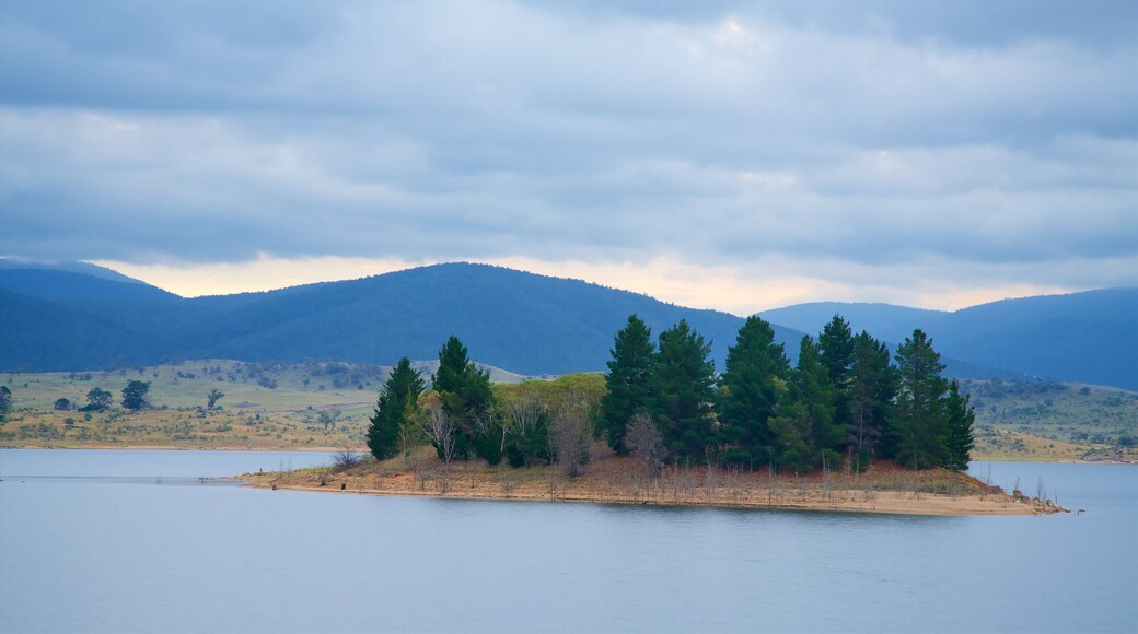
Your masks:
<svg viewBox="0 0 1138 634"><path fill-rule="evenodd" d="M981 366L1138 390L1138 289L1011 299L955 312L824 302L759 315L817 332L835 314L855 331L890 342L920 327L941 353Z"/></svg>

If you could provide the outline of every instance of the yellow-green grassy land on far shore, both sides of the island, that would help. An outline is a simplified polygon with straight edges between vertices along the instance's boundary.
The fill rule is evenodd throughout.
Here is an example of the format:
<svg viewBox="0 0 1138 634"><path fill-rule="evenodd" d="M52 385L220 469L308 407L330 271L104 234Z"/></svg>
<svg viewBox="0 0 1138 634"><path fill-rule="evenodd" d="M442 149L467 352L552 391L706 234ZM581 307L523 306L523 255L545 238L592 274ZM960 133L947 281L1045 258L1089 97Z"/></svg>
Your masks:
<svg viewBox="0 0 1138 634"><path fill-rule="evenodd" d="M436 364L420 364L430 374ZM220 359L92 373L0 374L14 407L3 447L362 448L389 368L360 364L258 365ZM495 382L523 377L489 368ZM151 409L117 407L130 381L150 382ZM1138 460L1138 393L1054 382L964 381L981 460ZM105 412L57 410L109 391ZM211 390L225 395L207 409Z"/></svg>

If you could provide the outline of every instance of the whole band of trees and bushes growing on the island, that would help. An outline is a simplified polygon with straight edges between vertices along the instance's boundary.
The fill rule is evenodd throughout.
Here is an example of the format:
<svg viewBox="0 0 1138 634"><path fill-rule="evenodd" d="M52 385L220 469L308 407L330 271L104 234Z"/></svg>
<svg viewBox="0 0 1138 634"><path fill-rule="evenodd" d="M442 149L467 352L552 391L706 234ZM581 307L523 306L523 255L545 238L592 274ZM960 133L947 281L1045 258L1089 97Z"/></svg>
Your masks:
<svg viewBox="0 0 1138 634"><path fill-rule="evenodd" d="M379 395L368 447L380 460L429 443L438 458L561 464L589 459L592 441L665 464L802 473L864 470L875 458L913 468L967 468L975 419L917 329L891 356L840 316L805 336L791 367L770 324L749 318L716 372L710 344L685 322L652 340L633 315L604 375L492 385L452 336L430 387L403 358Z"/></svg>

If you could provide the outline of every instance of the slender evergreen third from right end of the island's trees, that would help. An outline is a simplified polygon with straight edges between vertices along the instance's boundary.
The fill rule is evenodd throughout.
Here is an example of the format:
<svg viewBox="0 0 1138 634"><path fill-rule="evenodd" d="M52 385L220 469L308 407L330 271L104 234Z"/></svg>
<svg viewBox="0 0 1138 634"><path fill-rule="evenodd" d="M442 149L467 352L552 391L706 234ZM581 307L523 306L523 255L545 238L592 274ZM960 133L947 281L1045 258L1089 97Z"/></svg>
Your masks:
<svg viewBox="0 0 1138 634"><path fill-rule="evenodd" d="M853 364L846 389L850 419L846 425L846 450L851 468L864 470L875 456L890 454L881 441L889 431L889 412L897 398L897 369L889 348L861 334L853 337Z"/></svg>

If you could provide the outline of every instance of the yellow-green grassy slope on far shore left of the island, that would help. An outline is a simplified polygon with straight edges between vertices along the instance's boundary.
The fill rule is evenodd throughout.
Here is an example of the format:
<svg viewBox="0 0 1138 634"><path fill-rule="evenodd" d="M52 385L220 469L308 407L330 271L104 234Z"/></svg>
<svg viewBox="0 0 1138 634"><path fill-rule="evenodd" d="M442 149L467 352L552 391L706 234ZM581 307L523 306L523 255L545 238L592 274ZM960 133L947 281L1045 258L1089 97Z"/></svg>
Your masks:
<svg viewBox="0 0 1138 634"><path fill-rule="evenodd" d="M429 370L429 368L424 368ZM388 368L354 364L262 366L208 359L94 373L0 375L14 408L0 425L9 447L341 448L361 447ZM117 407L130 381L150 382L151 409ZM105 412L57 410L58 399L86 404L93 387L116 403ZM206 409L207 394L225 395Z"/></svg>

